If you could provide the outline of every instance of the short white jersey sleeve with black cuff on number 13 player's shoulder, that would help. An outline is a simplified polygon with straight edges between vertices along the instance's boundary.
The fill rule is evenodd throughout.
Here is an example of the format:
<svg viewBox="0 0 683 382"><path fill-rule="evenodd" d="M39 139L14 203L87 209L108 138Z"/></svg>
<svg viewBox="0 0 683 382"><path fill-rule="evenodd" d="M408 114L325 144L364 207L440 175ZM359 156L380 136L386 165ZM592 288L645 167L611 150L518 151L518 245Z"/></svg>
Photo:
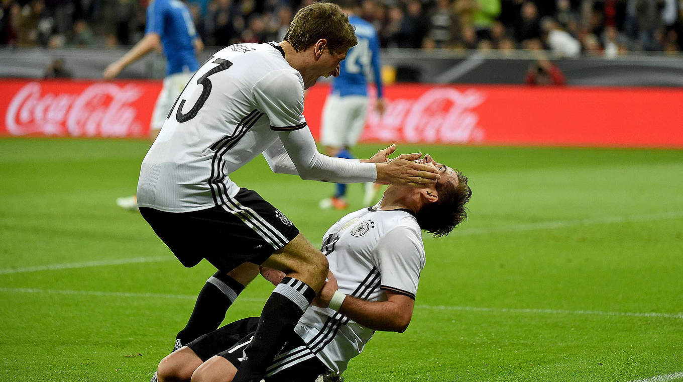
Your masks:
<svg viewBox="0 0 683 382"><path fill-rule="evenodd" d="M270 72L251 89L256 108L268 115L270 128L292 131L306 126L303 82L290 70Z"/></svg>

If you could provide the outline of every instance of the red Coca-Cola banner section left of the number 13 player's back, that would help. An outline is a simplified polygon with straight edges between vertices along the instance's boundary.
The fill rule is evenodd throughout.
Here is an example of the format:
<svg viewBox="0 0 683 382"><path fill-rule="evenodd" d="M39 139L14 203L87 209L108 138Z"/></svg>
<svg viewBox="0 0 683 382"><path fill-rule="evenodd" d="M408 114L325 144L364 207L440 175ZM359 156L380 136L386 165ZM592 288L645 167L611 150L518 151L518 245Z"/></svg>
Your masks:
<svg viewBox="0 0 683 382"><path fill-rule="evenodd" d="M0 135L147 137L159 81L0 81Z"/></svg>

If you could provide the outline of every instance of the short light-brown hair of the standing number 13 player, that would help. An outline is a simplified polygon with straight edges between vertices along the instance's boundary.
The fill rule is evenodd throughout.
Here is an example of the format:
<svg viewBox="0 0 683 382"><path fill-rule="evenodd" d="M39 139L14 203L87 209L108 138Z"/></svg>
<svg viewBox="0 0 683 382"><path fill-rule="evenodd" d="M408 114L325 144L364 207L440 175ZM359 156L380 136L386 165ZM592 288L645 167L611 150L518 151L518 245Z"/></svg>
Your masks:
<svg viewBox="0 0 683 382"><path fill-rule="evenodd" d="M327 40L330 53L346 53L358 44L355 28L339 5L320 2L301 8L285 33L285 40L297 52L305 51L321 38Z"/></svg>

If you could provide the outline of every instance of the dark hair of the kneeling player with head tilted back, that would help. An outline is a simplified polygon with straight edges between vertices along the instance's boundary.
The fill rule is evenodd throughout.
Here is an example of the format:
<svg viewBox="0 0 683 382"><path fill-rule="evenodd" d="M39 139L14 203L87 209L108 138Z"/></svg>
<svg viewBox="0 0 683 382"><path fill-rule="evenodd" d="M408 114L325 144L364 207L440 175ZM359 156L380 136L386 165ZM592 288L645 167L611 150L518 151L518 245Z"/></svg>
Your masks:
<svg viewBox="0 0 683 382"><path fill-rule="evenodd" d="M437 182L438 200L425 204L417 212L417 223L434 237L446 236L467 219L465 204L472 196L467 177L456 170L458 185L452 182Z"/></svg>

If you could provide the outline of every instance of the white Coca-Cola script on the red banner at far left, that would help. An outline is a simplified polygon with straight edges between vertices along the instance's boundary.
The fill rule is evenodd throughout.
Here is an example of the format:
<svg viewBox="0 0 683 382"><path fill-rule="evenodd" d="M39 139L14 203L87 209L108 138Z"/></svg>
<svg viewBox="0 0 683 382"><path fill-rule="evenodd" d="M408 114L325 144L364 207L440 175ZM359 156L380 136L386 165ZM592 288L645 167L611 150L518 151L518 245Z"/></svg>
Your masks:
<svg viewBox="0 0 683 382"><path fill-rule="evenodd" d="M133 84L93 83L75 94L42 93L40 83L30 82L14 94L5 113L8 133L127 137L145 131L132 105L143 91Z"/></svg>

